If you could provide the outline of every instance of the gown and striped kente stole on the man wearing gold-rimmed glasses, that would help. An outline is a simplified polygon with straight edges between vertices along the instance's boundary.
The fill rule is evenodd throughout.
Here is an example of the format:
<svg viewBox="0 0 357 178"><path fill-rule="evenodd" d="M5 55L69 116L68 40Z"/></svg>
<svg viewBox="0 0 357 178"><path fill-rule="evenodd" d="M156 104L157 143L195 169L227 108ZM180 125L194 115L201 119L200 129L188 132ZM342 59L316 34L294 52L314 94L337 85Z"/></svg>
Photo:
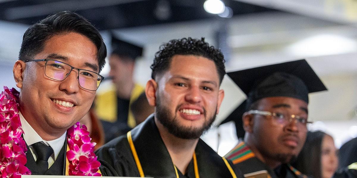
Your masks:
<svg viewBox="0 0 357 178"><path fill-rule="evenodd" d="M244 143L239 142L232 151L225 156L232 161L235 172L242 172L246 178L306 178L290 164L282 164L272 170L262 161L255 157L254 153Z"/></svg>

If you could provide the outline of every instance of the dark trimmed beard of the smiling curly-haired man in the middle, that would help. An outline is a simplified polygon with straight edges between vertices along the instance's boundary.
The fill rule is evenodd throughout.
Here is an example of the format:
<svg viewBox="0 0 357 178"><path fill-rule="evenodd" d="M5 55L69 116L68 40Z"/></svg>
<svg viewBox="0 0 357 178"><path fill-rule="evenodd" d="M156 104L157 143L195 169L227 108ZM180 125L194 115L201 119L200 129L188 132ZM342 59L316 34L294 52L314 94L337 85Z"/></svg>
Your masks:
<svg viewBox="0 0 357 178"><path fill-rule="evenodd" d="M181 105L178 105L175 109L175 115L172 116L170 114L170 110L165 107L164 105L161 105L161 101L159 96L156 98L156 110L155 110L155 117L159 122L166 127L166 129L171 133L172 135L178 137L178 138L183 138L183 139L197 139L200 138L200 136L207 131L213 121L216 119L216 114L213 114L213 116L210 116L208 119L206 117L207 112L205 109L203 109L203 115L205 116L205 122L201 127L193 127L193 126L182 126L180 122L178 121L177 118L177 111L178 108L180 108ZM216 111L214 113L217 113L217 107Z"/></svg>

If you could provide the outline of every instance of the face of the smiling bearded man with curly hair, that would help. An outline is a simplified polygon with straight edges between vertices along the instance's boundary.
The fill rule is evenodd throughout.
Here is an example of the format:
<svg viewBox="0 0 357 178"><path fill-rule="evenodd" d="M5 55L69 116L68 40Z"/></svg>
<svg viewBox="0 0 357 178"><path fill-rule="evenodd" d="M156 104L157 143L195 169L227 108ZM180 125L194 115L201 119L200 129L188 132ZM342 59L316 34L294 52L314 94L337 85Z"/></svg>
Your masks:
<svg viewBox="0 0 357 178"><path fill-rule="evenodd" d="M224 95L215 63L175 55L170 69L157 79L155 117L176 137L199 138L218 114Z"/></svg>

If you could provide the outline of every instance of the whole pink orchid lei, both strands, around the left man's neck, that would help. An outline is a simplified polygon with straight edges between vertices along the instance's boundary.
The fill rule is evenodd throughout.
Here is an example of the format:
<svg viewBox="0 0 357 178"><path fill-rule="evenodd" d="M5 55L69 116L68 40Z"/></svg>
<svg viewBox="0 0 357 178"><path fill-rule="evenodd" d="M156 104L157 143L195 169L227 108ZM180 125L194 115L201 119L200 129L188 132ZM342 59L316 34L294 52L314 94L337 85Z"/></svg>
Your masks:
<svg viewBox="0 0 357 178"><path fill-rule="evenodd" d="M4 86L0 94L0 178L20 178L30 175L26 143L21 135L19 115L19 91ZM70 176L101 176L97 173L100 163L94 154L95 142L91 143L87 127L79 122L67 130L67 151Z"/></svg>

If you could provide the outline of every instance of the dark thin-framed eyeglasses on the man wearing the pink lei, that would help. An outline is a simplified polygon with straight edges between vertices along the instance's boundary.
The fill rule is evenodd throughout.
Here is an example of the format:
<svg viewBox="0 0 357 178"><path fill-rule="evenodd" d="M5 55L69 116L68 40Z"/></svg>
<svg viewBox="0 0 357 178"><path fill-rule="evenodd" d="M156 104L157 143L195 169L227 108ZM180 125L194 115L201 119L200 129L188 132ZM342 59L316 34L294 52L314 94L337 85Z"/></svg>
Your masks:
<svg viewBox="0 0 357 178"><path fill-rule="evenodd" d="M78 70L78 83L79 86L86 90L91 90L95 91L98 89L100 83L104 79L102 75L99 75L96 72L90 71L90 70L85 70L85 69L79 69L72 67L69 64L66 64L61 61L56 61L53 59L36 59L36 60L27 60L24 62L41 62L41 61L46 61L45 64L45 75L50 78L54 79L57 81L62 81L67 78L67 76L72 72L73 69Z"/></svg>

